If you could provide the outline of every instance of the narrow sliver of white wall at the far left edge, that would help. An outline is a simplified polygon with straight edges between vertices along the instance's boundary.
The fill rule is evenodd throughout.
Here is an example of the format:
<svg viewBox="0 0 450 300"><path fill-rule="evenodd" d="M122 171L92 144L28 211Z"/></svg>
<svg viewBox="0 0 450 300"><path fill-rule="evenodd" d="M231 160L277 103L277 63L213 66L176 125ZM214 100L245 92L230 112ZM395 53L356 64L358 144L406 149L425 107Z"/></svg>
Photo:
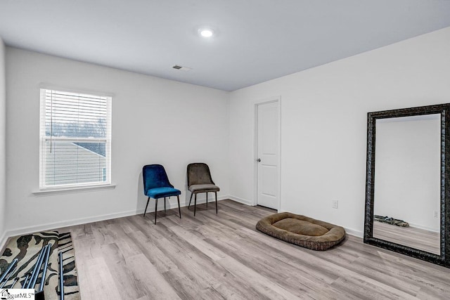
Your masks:
<svg viewBox="0 0 450 300"><path fill-rule="evenodd" d="M6 230L6 74L5 44L0 37L0 251Z"/></svg>

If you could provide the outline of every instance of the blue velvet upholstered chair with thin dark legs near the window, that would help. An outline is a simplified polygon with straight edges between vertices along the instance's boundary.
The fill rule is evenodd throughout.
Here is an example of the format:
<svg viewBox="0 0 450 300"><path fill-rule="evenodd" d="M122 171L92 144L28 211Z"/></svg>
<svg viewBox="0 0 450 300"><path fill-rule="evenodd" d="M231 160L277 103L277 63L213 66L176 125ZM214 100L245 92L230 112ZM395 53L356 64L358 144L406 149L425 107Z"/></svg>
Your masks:
<svg viewBox="0 0 450 300"><path fill-rule="evenodd" d="M150 197L155 199L155 224L156 224L156 209L158 209L158 199L164 198L164 211L166 211L166 197L176 196L178 200L178 211L181 219L180 209L180 190L174 188L174 185L170 184L169 178L164 167L160 164L148 164L142 168L143 177L143 193L148 196L146 210L143 212L143 216L146 216L148 202Z"/></svg>

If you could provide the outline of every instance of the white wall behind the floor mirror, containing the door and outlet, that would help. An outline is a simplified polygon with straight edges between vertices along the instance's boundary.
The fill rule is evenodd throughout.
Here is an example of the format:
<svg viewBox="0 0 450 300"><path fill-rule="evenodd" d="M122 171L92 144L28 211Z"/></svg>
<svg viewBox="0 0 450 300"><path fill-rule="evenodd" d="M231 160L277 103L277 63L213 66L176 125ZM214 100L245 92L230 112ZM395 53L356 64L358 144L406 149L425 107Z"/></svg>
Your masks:
<svg viewBox="0 0 450 300"><path fill-rule="evenodd" d="M232 92L230 194L253 202L252 101L281 96L281 210L362 235L367 112L449 103L449 78L447 27Z"/></svg>

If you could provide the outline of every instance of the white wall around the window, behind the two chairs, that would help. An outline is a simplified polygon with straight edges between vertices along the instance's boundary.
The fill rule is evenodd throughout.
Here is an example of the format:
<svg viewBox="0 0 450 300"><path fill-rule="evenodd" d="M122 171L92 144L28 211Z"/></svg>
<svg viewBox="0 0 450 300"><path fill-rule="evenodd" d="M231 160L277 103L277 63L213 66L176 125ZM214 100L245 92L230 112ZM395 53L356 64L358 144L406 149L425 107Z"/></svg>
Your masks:
<svg viewBox="0 0 450 300"><path fill-rule="evenodd" d="M11 234L143 212L147 200L142 191L144 164L165 166L169 180L183 192L181 202L186 198L190 162L207 162L221 188L219 196L228 194L228 93L10 47L6 48L6 71L7 229ZM39 190L41 83L114 94L115 189L32 194ZM171 203L175 207L176 198ZM153 211L151 204L149 211Z"/></svg>

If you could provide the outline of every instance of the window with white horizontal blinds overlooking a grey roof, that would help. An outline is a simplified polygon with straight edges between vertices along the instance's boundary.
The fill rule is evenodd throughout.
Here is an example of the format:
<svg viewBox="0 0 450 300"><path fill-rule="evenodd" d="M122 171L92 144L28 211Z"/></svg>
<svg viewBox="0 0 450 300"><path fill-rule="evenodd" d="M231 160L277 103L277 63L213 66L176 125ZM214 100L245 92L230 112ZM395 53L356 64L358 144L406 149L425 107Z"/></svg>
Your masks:
<svg viewBox="0 0 450 300"><path fill-rule="evenodd" d="M111 183L111 97L41 89L39 187Z"/></svg>

